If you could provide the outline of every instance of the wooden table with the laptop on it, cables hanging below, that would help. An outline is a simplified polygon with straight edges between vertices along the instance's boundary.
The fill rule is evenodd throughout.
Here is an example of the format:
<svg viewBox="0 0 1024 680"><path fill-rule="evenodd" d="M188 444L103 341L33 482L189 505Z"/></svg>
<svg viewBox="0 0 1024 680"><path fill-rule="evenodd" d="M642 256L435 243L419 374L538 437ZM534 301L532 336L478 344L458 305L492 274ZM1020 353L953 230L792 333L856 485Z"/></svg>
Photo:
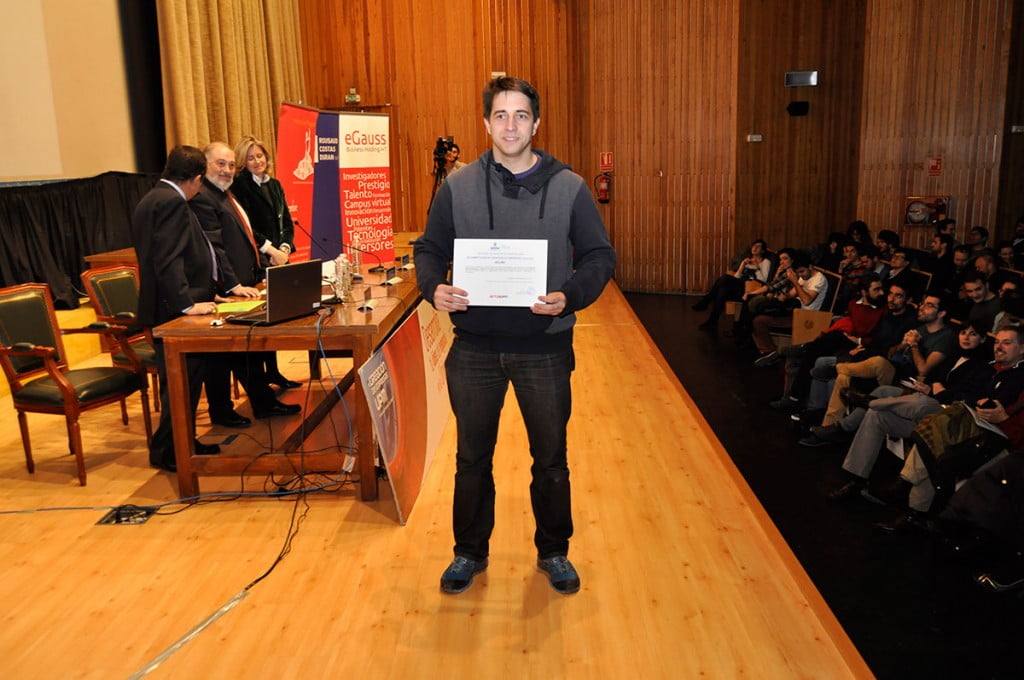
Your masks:
<svg viewBox="0 0 1024 680"><path fill-rule="evenodd" d="M352 353L352 374L362 366L387 334L410 312L419 300L414 271L401 272L403 281L395 286L380 286L383 274L367 273L366 284L357 284L355 298L361 300L369 290L377 306L368 311L358 311L353 303L334 305L334 313L321 323L319 339L326 352L343 350ZM325 398L303 414L300 422L285 436L282 452L272 452L255 459L250 456L196 456L193 452L193 414L188 408L187 378L184 367L185 354L190 352L263 351L263 350L308 350L318 354L316 323L318 314L296 318L284 324L266 327L248 327L224 324L211 327L207 316L180 316L154 329L154 335L164 341L164 355L167 362L167 388L174 427L174 453L178 466L178 492L182 498L199 493L200 474L240 474L250 472L294 472L301 463L309 470L340 471L344 460L343 452L334 453L292 453L302 443L304 434L310 433L315 425L337 402L336 391L329 391ZM315 373L318 364L311 367ZM362 392L362 385L356 375L350 374L346 386L355 386L355 418L353 433L358 451L357 470L359 492L364 501L377 498L376 442L373 422ZM299 460L301 456L301 461Z"/></svg>

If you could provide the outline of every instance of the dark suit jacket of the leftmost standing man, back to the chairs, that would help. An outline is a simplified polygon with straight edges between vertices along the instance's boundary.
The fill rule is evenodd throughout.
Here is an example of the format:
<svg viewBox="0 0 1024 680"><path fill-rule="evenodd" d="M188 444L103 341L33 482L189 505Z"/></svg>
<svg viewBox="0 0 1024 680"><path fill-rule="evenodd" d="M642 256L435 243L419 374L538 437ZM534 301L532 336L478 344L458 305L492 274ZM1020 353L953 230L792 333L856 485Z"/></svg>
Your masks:
<svg viewBox="0 0 1024 680"><path fill-rule="evenodd" d="M210 245L188 203L173 186L157 182L132 215L138 257L138 320L158 326L214 295Z"/></svg>

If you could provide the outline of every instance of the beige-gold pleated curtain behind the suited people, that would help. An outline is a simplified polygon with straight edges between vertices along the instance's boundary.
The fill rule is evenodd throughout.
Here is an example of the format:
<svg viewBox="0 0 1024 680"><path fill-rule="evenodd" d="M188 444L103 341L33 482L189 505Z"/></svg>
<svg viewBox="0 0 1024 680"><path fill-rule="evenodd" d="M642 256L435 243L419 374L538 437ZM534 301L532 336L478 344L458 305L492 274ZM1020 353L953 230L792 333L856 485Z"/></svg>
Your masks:
<svg viewBox="0 0 1024 680"><path fill-rule="evenodd" d="M157 0L167 144L276 147L282 101L303 101L298 0Z"/></svg>

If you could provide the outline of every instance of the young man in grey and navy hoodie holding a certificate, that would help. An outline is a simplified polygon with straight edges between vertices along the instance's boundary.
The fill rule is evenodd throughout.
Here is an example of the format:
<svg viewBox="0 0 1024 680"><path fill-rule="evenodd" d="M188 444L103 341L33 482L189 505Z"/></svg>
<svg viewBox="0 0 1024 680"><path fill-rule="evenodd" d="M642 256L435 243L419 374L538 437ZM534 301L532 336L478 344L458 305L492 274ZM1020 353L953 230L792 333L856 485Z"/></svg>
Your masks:
<svg viewBox="0 0 1024 680"><path fill-rule="evenodd" d="M416 243L423 297L452 314L456 333L445 362L459 430L455 559L441 576L445 593L463 592L487 567L492 463L509 382L534 458L538 568L559 593L580 590L567 559L573 312L601 294L615 252L584 179L531 147L540 122L540 97L529 83L492 81L483 91L492 148L449 176Z"/></svg>

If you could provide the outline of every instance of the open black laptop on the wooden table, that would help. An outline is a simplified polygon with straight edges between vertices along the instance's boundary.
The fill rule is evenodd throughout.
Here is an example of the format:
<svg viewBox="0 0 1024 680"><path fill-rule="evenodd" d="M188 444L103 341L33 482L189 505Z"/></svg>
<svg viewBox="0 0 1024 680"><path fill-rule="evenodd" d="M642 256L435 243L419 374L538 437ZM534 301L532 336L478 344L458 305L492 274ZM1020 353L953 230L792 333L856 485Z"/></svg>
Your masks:
<svg viewBox="0 0 1024 680"><path fill-rule="evenodd" d="M315 312L321 306L321 261L282 264L266 270L266 302L259 309L227 317L228 324L271 326Z"/></svg>

